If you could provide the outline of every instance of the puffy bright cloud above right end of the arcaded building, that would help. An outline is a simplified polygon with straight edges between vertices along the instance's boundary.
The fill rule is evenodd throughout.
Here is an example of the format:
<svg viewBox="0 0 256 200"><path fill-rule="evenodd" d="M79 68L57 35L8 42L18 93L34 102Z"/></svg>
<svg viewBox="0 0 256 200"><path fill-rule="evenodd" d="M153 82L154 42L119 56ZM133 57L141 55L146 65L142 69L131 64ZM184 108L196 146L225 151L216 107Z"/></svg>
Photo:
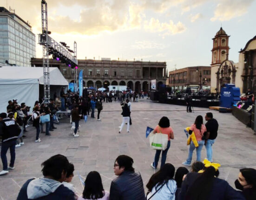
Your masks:
<svg viewBox="0 0 256 200"><path fill-rule="evenodd" d="M151 18L150 21L144 22L144 29L150 32L161 32L161 35L174 35L184 32L186 27L180 21L177 24L172 20L169 23L161 23L158 19Z"/></svg>

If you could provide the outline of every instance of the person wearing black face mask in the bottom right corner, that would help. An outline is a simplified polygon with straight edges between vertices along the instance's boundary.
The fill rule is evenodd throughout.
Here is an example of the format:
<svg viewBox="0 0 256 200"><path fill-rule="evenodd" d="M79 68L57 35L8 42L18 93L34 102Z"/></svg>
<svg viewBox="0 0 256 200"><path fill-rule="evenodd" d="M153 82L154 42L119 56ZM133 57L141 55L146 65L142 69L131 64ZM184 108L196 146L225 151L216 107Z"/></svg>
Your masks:
<svg viewBox="0 0 256 200"><path fill-rule="evenodd" d="M256 200L256 169L240 169L235 186L236 189L243 191L242 194L246 200Z"/></svg>

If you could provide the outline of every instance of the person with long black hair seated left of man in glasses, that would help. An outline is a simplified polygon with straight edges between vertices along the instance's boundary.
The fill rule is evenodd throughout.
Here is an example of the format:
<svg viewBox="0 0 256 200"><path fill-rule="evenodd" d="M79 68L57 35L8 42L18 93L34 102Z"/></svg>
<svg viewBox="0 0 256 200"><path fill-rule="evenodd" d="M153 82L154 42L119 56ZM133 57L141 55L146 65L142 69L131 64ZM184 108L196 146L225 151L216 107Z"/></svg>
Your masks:
<svg viewBox="0 0 256 200"><path fill-rule="evenodd" d="M92 171L87 175L83 195L78 200L109 200L109 192L104 190L98 172Z"/></svg>

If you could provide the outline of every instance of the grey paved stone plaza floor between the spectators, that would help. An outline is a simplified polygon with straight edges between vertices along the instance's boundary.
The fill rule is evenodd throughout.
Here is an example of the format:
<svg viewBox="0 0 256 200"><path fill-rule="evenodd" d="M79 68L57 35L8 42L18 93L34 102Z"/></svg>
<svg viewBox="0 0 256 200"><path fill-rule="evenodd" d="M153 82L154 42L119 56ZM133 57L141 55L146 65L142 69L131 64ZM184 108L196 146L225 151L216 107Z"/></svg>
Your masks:
<svg viewBox="0 0 256 200"><path fill-rule="evenodd" d="M185 106L154 103L145 98L138 103L131 103L130 133L126 132L125 125L121 134L118 134L122 116L121 106L115 102L103 103L104 109L100 114L102 121L91 117L88 117L87 123L80 121L80 136L77 138L70 134L71 124L68 121L60 121L56 125L58 129L51 132L52 136L41 134L42 142L35 143L36 131L29 126L26 134L28 137L24 139L25 145L16 148L15 169L0 177L1 200L15 200L24 182L41 176L41 163L56 154L66 155L74 164L72 184L79 194L82 194L83 188L78 174L85 178L92 170L101 174L104 189L109 191L111 181L115 178L113 173L115 158L122 154L133 158L134 168L142 174L145 188L154 173L150 164L155 155L155 150L149 147L148 138L145 138L145 130L147 126L155 128L162 116L170 119L174 130L174 140L171 140L166 162L172 163L176 168L183 166L181 163L188 155L184 128L190 126L197 115L204 117L210 110L194 108L195 113L187 113ZM253 131L246 128L231 113L219 113L214 110L211 112L219 123L218 137L213 146L213 160L222 165L220 178L234 187L239 168L256 168L256 135L253 135ZM203 147L202 159L204 157L206 153ZM10 161L9 152L7 158ZM193 161L195 159L194 153Z"/></svg>

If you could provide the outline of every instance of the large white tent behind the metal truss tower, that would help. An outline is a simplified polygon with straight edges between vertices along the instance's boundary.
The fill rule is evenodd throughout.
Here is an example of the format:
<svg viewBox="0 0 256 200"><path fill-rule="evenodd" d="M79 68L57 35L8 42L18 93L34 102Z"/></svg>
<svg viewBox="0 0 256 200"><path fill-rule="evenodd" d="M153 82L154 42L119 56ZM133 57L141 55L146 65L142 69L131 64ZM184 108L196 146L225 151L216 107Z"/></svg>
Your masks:
<svg viewBox="0 0 256 200"><path fill-rule="evenodd" d="M0 67L0 112L6 112L8 101L13 99L33 108L39 100L39 84L44 84L43 67ZM65 77L57 67L50 67L51 96L63 86L68 86ZM44 96L43 90L40 93Z"/></svg>

